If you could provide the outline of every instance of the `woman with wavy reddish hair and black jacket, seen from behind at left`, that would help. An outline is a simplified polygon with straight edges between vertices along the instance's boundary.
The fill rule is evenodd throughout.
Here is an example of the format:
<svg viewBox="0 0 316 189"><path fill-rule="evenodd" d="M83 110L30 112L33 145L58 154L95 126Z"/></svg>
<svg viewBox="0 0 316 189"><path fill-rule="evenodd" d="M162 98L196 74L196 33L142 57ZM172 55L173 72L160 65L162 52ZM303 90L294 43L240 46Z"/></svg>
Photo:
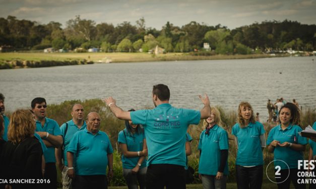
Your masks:
<svg viewBox="0 0 316 189"><path fill-rule="evenodd" d="M29 110L17 110L10 118L8 139L0 156L1 177L6 179L42 178L42 148L34 137L35 120ZM14 184L13 188L26 185ZM34 188L35 184L32 184Z"/></svg>

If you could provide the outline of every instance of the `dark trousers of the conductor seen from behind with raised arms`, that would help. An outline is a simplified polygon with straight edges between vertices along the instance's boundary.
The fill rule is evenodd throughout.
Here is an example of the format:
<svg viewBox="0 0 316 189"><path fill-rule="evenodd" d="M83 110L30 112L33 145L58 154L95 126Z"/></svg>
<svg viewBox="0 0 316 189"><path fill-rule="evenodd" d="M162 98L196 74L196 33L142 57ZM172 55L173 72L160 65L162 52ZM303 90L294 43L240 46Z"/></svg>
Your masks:
<svg viewBox="0 0 316 189"><path fill-rule="evenodd" d="M147 167L147 189L185 189L185 169L180 165L151 164Z"/></svg>

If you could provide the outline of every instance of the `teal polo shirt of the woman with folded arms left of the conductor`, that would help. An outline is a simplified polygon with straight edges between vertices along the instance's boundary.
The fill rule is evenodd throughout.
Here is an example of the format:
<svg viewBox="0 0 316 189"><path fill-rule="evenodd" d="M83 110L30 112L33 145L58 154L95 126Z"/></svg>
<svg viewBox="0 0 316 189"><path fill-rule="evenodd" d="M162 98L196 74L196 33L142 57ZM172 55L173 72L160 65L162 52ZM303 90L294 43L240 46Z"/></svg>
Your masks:
<svg viewBox="0 0 316 189"><path fill-rule="evenodd" d="M124 135L125 132L125 135ZM134 133L133 135L129 134L127 129L124 129L118 133L118 143L126 144L128 146L128 151L131 152L138 152L143 150L143 144L144 144L145 133ZM125 157L122 154L122 163L124 169L133 169L139 160L140 157ZM142 162L142 165L140 168L146 167L146 159Z"/></svg>

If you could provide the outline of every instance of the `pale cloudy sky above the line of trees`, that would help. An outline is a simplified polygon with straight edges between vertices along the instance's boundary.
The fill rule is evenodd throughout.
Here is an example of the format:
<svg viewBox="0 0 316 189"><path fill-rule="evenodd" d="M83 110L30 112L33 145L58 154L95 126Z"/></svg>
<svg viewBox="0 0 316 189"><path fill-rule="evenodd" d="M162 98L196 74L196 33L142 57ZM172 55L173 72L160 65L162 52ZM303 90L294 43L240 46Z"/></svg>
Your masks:
<svg viewBox="0 0 316 189"><path fill-rule="evenodd" d="M0 0L0 17L47 24L66 22L80 15L96 24L136 25L144 17L146 27L161 30L168 21L183 26L196 21L229 29L263 21L298 21L316 24L316 0Z"/></svg>

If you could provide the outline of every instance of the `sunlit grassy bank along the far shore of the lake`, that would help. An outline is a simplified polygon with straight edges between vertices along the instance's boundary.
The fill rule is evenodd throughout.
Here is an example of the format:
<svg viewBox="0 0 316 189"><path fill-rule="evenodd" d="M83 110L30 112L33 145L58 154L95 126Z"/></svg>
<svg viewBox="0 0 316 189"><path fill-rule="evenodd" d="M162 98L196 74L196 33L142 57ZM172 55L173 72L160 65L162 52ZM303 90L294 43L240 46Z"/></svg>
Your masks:
<svg viewBox="0 0 316 189"><path fill-rule="evenodd" d="M284 56L284 55L283 55ZM269 54L194 56L188 53L0 53L0 69L49 67L98 62L150 62L179 60L219 60L272 57ZM18 62L18 63L17 63ZM28 63L27 63L28 62ZM61 63L60 63L61 62ZM66 63L62 63L66 62ZM78 62L70 64L68 62Z"/></svg>

